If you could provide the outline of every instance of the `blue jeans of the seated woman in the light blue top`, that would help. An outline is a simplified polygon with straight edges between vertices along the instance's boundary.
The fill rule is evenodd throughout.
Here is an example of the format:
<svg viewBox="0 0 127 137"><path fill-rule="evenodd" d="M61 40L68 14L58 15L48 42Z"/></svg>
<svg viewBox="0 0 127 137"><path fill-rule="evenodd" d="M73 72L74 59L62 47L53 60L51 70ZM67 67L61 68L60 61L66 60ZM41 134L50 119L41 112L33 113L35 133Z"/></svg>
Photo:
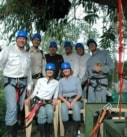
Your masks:
<svg viewBox="0 0 127 137"><path fill-rule="evenodd" d="M74 121L81 121L81 114L80 114L80 109L82 109L83 104L81 101L77 101L75 102L75 104L73 105L72 111L72 118ZM64 122L69 120L69 114L68 114L68 106L66 103L62 103L61 106L61 115L62 115L62 120Z"/></svg>

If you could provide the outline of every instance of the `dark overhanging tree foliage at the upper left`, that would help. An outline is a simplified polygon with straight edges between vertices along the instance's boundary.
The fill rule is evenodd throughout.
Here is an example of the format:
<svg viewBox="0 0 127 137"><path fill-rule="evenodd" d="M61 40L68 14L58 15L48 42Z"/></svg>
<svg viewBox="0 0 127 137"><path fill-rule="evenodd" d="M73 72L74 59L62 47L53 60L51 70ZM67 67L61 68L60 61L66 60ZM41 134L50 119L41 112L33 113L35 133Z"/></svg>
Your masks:
<svg viewBox="0 0 127 137"><path fill-rule="evenodd" d="M10 40L19 29L30 34L33 30L46 31L50 20L64 18L70 8L70 2L64 0L3 0L0 4L0 20L4 21Z"/></svg>

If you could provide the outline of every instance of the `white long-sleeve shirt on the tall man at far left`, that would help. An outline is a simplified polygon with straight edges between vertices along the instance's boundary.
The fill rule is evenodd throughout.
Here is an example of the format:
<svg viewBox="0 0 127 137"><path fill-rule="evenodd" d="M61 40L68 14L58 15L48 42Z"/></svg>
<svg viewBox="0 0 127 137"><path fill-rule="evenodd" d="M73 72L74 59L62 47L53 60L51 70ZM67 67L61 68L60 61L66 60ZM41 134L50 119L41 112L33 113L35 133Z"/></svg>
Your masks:
<svg viewBox="0 0 127 137"><path fill-rule="evenodd" d="M27 89L31 89L31 61L25 50L19 50L16 44L5 47L0 52L0 65L6 77L27 77Z"/></svg>

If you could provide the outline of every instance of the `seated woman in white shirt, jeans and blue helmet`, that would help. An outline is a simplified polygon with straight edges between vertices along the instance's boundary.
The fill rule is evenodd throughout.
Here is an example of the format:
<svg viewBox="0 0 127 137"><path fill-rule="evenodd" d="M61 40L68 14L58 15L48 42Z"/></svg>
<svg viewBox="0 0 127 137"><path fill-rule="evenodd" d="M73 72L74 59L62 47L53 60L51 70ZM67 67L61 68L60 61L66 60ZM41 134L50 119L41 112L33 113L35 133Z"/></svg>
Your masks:
<svg viewBox="0 0 127 137"><path fill-rule="evenodd" d="M38 79L31 96L25 100L26 105L29 105L33 99L45 103L37 112L40 137L50 137L53 126L54 108L59 92L59 82L53 76L55 70L56 67L53 63L47 63L45 66L46 76Z"/></svg>

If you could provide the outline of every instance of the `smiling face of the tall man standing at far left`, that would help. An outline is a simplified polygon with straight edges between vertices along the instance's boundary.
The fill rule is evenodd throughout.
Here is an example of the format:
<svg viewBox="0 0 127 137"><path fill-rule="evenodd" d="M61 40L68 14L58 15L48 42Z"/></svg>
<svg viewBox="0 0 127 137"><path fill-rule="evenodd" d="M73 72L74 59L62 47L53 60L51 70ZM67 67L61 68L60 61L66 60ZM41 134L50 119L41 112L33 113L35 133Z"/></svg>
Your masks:
<svg viewBox="0 0 127 137"><path fill-rule="evenodd" d="M27 39L25 37L18 37L16 39L17 46L20 50L24 49L24 46L26 45Z"/></svg>

